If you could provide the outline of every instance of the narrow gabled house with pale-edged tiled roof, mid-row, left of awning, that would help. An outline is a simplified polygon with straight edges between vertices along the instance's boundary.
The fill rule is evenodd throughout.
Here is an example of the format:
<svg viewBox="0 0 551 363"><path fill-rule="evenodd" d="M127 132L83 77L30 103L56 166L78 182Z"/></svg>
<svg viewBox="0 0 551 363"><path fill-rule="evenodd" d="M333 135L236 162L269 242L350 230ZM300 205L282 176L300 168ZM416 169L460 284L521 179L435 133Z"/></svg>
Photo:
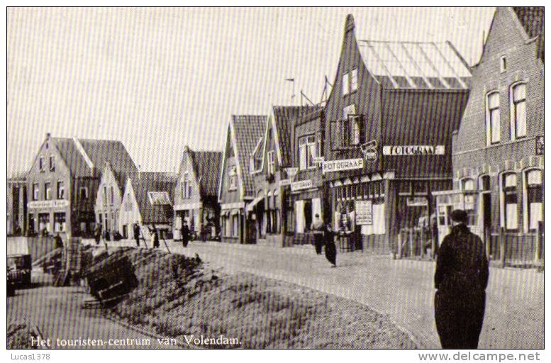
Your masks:
<svg viewBox="0 0 551 363"><path fill-rule="evenodd" d="M255 200L250 157L262 141L267 116L231 116L218 184L223 242L255 243L256 223L246 208Z"/></svg>

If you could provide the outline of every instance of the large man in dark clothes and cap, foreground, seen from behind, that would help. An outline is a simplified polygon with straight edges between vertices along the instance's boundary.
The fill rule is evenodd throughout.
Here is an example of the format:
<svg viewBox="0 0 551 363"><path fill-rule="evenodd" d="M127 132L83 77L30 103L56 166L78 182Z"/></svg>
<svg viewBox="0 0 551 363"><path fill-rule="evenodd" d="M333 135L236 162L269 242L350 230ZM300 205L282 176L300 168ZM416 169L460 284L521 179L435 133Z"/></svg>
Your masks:
<svg viewBox="0 0 551 363"><path fill-rule="evenodd" d="M467 213L451 214L452 231L440 249L434 277L435 320L444 349L477 349L488 285L484 243L467 228Z"/></svg>

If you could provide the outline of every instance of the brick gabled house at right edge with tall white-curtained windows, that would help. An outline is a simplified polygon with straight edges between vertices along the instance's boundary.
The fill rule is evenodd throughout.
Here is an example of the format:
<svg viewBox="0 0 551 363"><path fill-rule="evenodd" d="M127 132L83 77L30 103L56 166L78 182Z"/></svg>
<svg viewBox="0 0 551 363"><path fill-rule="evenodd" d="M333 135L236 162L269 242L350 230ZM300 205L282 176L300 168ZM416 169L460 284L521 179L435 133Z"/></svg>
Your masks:
<svg viewBox="0 0 551 363"><path fill-rule="evenodd" d="M454 192L438 196L440 237L464 208L494 259L542 257L543 44L543 8L496 9L453 138Z"/></svg>

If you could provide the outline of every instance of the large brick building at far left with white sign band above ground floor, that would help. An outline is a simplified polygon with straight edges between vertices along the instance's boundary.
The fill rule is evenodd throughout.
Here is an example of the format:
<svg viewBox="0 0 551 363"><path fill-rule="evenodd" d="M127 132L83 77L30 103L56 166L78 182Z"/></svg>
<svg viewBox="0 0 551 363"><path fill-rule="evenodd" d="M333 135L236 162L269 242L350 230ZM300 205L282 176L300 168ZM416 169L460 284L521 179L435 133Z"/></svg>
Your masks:
<svg viewBox="0 0 551 363"><path fill-rule="evenodd" d="M28 172L28 230L91 235L106 163L115 171L135 168L120 141L52 138L48 133Z"/></svg>

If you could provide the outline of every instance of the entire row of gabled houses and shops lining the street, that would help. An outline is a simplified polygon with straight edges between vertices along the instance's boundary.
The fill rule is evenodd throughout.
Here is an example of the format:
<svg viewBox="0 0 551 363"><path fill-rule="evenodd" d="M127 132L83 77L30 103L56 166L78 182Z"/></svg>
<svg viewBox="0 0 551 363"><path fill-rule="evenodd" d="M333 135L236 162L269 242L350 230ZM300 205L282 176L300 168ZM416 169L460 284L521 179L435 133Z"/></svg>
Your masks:
<svg viewBox="0 0 551 363"><path fill-rule="evenodd" d="M474 67L449 42L366 39L349 15L322 104L231 116L223 150L185 148L177 175L140 173L117 142L48 137L11 218L176 239L186 220L223 242L289 246L311 242L319 215L343 249L403 255L434 249L464 208L489 255L539 258L543 65L540 8L496 9Z"/></svg>

